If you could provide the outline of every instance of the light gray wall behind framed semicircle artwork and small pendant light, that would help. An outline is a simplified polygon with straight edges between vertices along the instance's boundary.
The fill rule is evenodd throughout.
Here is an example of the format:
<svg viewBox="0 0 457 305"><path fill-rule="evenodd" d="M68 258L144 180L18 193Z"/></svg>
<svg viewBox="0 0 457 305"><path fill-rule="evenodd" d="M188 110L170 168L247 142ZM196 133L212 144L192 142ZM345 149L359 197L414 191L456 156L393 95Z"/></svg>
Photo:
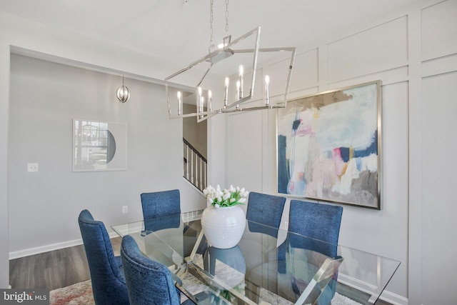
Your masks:
<svg viewBox="0 0 457 305"><path fill-rule="evenodd" d="M14 54L10 82L11 256L79 243L82 209L107 227L141 219L142 192L181 189L183 211L206 206L182 179L182 121L164 115L163 86L126 79L131 98L121 104L119 76ZM127 123L128 169L72 171L73 118Z"/></svg>

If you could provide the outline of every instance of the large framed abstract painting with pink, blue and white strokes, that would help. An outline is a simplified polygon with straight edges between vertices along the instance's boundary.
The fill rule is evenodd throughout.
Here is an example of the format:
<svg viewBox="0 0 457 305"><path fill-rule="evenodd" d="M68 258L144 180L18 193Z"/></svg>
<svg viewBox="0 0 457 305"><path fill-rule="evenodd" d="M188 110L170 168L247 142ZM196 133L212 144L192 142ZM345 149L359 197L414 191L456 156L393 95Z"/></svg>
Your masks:
<svg viewBox="0 0 457 305"><path fill-rule="evenodd" d="M278 109L278 192L381 209L381 81Z"/></svg>

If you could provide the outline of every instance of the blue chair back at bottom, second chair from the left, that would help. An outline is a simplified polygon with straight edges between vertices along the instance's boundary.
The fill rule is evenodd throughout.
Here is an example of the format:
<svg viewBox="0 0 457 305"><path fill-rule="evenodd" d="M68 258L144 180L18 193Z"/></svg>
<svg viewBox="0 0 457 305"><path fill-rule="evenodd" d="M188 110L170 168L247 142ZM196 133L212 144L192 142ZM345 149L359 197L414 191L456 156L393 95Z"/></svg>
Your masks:
<svg viewBox="0 0 457 305"><path fill-rule="evenodd" d="M141 254L138 244L129 235L122 239L121 258L132 305L180 303L169 269Z"/></svg>

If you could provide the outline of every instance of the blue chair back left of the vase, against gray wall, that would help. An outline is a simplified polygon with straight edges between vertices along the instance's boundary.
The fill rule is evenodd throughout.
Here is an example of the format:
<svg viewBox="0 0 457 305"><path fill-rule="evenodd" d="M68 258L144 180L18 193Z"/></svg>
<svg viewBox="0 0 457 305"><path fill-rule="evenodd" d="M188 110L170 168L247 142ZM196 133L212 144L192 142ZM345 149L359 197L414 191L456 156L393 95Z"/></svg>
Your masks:
<svg viewBox="0 0 457 305"><path fill-rule="evenodd" d="M143 193L140 196L145 221L146 219L181 213L179 189Z"/></svg>

